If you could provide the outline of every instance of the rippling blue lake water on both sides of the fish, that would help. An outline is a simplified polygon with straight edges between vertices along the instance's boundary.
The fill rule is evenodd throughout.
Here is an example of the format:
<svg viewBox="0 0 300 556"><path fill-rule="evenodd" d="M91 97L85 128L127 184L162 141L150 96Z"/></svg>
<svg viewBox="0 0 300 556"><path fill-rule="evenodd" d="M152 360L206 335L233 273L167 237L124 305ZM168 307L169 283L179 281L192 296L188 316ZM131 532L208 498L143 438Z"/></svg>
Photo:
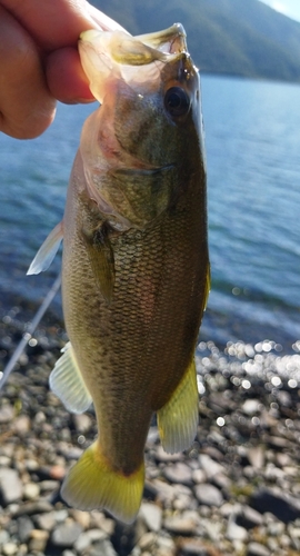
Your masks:
<svg viewBox="0 0 300 556"><path fill-rule="evenodd" d="M217 344L300 339L300 87L202 77L212 289L201 337ZM82 122L58 107L33 141L0 136L0 302L40 302L59 272L27 277L61 219ZM60 312L60 299L53 310ZM22 314L20 314L20 317ZM26 318L26 315L24 315ZM300 346L300 342L298 344Z"/></svg>

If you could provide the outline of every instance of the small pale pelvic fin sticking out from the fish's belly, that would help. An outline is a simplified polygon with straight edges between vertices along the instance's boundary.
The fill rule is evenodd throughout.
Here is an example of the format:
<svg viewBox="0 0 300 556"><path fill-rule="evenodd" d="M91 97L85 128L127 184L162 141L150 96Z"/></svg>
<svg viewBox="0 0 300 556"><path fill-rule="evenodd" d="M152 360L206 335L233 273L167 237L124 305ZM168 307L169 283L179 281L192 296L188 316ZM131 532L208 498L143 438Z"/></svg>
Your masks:
<svg viewBox="0 0 300 556"><path fill-rule="evenodd" d="M49 236L46 238L42 246L38 250L27 271L28 275L39 275L50 267L53 258L57 255L62 238L63 227L61 221L53 228L52 231L50 231Z"/></svg>

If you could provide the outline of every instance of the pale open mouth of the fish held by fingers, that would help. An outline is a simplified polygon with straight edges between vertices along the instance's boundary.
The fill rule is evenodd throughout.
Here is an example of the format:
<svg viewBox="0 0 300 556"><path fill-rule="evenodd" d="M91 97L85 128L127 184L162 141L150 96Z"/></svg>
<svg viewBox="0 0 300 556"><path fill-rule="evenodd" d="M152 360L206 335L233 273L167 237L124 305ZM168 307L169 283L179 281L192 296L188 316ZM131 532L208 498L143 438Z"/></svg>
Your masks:
<svg viewBox="0 0 300 556"><path fill-rule="evenodd" d="M181 23L138 37L123 31L84 31L80 36L79 53L90 89L101 103L107 92L104 83L113 78L129 85L152 83L154 88L163 66L180 60L184 64L189 59Z"/></svg>

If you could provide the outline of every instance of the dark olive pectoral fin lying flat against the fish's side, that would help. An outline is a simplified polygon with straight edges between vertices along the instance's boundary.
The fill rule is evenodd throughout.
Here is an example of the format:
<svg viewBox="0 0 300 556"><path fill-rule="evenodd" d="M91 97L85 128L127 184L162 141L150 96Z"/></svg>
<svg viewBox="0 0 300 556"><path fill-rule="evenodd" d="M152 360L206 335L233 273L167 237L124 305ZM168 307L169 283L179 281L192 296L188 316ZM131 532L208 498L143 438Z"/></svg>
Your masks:
<svg viewBox="0 0 300 556"><path fill-rule="evenodd" d="M114 258L108 237L109 227L102 224L92 231L82 229L93 276L104 299L110 302L114 286Z"/></svg>

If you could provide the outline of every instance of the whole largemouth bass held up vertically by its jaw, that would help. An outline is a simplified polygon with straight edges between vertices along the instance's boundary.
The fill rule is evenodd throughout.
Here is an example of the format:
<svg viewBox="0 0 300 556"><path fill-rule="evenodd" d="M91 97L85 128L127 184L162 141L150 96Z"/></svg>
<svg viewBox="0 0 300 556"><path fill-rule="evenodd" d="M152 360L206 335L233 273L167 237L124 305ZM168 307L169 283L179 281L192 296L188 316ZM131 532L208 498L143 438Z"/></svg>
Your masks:
<svg viewBox="0 0 300 556"><path fill-rule="evenodd" d="M140 37L82 33L79 51L101 106L86 121L63 224L62 300L70 339L50 386L66 407L93 401L97 440L62 497L132 522L153 413L164 450L194 439L194 349L209 290L199 75L180 24Z"/></svg>

